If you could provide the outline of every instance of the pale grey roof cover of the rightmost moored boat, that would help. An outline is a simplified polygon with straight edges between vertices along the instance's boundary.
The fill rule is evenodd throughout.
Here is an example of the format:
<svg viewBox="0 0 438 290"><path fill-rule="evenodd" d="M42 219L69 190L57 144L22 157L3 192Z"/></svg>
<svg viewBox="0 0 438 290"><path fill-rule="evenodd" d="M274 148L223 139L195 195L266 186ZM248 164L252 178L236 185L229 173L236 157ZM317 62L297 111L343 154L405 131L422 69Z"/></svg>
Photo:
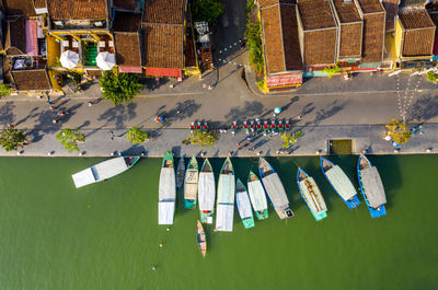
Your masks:
<svg viewBox="0 0 438 290"><path fill-rule="evenodd" d="M380 178L377 167L372 166L360 171L362 187L367 195L368 202L372 208L378 208L387 204L387 196L382 179Z"/></svg>

